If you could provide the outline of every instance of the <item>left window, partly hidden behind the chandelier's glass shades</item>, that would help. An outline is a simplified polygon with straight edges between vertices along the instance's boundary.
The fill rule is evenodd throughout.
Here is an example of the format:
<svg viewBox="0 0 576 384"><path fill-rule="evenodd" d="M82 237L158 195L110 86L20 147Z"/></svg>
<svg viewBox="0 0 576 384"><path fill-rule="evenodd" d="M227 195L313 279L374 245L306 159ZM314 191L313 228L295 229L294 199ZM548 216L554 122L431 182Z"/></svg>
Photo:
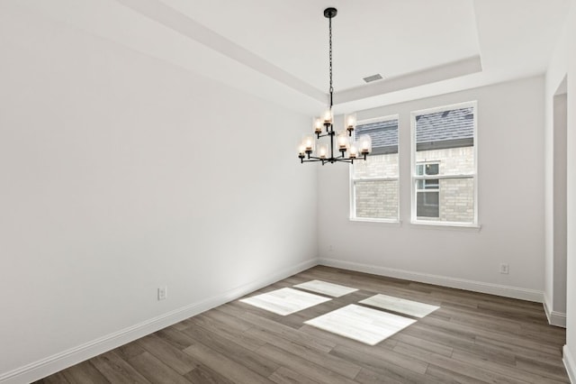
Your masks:
<svg viewBox="0 0 576 384"><path fill-rule="evenodd" d="M369 135L372 153L351 168L351 218L398 221L398 116L359 121L355 137Z"/></svg>

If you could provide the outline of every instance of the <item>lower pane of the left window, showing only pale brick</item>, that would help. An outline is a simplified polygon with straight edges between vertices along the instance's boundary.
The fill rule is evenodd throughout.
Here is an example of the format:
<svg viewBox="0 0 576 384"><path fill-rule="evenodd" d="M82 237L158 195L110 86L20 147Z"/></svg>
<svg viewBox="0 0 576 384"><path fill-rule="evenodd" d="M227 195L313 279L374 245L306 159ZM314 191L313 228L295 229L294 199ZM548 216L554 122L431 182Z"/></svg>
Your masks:
<svg viewBox="0 0 576 384"><path fill-rule="evenodd" d="M356 217L398 219L398 180L361 180L354 184Z"/></svg>

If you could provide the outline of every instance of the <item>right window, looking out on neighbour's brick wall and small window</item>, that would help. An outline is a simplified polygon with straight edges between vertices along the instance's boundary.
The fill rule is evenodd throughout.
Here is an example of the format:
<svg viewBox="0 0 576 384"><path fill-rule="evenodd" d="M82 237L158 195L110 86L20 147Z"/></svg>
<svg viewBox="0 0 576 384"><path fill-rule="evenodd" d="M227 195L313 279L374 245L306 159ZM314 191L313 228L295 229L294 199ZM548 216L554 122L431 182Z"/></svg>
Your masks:
<svg viewBox="0 0 576 384"><path fill-rule="evenodd" d="M412 221L477 224L476 103L412 113Z"/></svg>

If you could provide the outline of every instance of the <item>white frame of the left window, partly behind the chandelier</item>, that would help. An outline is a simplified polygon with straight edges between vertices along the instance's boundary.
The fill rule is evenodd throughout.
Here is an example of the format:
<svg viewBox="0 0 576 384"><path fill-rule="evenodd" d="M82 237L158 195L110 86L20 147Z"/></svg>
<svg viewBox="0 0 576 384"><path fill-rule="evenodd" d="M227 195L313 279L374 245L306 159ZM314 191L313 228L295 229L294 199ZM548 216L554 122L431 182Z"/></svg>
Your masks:
<svg viewBox="0 0 576 384"><path fill-rule="evenodd" d="M395 178L354 178L354 165L352 165L351 167L349 167L349 202L350 202L350 206L349 206L349 220L350 221L354 221L354 222L369 222L369 223L389 223L389 224L400 224L400 217L401 217L401 213L400 213L400 207L401 207L401 187L400 187L400 180L401 180L401 175L400 175L400 169L401 169L401 157L400 157L400 114L388 114L385 116L379 116L379 117L374 117L374 118L369 118L369 119L362 119L362 120L358 120L356 122L356 125L362 125L365 123L377 123L377 122L388 122L391 120L396 120L398 121L398 152L397 152L397 156L398 156L398 170L396 172L396 177ZM354 131L353 135L352 135L352 140L356 140L356 130ZM368 157L370 156L379 156L379 155L368 155ZM364 160L359 160L359 161L364 161ZM356 216L356 181L396 181L397 182L397 196L398 196L398 206L396 207L396 218L378 218L378 217L357 217Z"/></svg>

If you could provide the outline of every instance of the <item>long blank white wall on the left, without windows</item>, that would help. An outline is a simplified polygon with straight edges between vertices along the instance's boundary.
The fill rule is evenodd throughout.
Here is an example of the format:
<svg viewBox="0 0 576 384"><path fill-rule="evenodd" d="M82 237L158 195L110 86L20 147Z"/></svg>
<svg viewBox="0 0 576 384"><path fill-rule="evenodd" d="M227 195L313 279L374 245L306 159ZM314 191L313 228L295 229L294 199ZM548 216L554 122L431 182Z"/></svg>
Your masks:
<svg viewBox="0 0 576 384"><path fill-rule="evenodd" d="M0 38L0 381L315 263L308 116L16 8Z"/></svg>

